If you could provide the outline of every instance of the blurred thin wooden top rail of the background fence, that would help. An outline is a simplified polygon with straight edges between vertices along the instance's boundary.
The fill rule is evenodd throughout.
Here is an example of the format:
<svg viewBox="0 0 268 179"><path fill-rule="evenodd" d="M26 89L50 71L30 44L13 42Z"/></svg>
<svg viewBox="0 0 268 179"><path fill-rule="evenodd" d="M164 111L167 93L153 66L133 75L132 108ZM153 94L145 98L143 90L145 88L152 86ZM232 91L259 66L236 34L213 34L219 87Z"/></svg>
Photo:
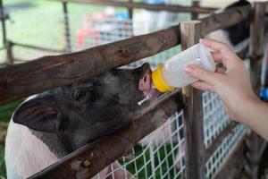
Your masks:
<svg viewBox="0 0 268 179"><path fill-rule="evenodd" d="M169 11L175 13L212 13L216 8L199 7L199 6L183 6L183 5L169 5L169 4L146 4L146 3L130 3L114 0L62 0L66 3L81 3L81 4L95 4L95 5L110 5L114 7L139 8L155 11Z"/></svg>

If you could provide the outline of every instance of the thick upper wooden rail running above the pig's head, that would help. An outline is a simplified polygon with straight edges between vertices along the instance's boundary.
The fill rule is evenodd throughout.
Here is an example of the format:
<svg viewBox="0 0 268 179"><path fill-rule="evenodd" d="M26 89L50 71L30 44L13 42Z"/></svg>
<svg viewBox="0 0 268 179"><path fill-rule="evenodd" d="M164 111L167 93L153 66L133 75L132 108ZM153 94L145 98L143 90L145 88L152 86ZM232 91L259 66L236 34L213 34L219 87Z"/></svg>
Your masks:
<svg viewBox="0 0 268 179"><path fill-rule="evenodd" d="M250 7L201 19L202 35L247 19ZM0 69L0 105L44 90L86 80L180 44L180 27L123 39L72 54L44 56Z"/></svg>

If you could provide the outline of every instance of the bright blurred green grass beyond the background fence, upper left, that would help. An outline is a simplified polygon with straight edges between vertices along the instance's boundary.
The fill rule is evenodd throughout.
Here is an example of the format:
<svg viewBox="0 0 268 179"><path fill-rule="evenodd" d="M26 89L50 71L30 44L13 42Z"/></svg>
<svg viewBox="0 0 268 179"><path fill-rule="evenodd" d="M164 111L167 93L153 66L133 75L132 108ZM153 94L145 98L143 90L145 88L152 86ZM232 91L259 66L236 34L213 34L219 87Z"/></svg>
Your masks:
<svg viewBox="0 0 268 179"><path fill-rule="evenodd" d="M28 7L14 9L16 4L26 4ZM48 47L63 50L65 47L63 4L59 1L48 0L5 0L4 6L10 12L10 21L6 21L7 38L13 42L30 44L38 47ZM75 44L76 29L81 25L81 16L85 13L103 11L103 6L87 4L68 4L70 15L71 37ZM119 9L121 11L121 9ZM2 31L0 30L0 47L2 44ZM23 59L36 58L37 50L25 47L14 47L15 57ZM29 56L28 56L29 55ZM0 63L5 60L5 51L0 52Z"/></svg>

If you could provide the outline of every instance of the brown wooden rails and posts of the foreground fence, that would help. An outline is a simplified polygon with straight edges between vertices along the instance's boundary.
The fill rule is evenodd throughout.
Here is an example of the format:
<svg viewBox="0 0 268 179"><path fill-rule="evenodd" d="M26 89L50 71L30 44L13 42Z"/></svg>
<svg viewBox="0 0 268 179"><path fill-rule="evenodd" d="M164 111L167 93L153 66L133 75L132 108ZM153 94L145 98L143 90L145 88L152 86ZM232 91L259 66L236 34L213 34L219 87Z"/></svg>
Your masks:
<svg viewBox="0 0 268 179"><path fill-rule="evenodd" d="M64 0L64 2L70 1ZM73 2L89 1L75 0ZM99 2L107 3L108 1ZM266 6L265 2L257 2L253 8L244 6L224 13L213 13L198 21L181 22L178 26L147 35L123 39L77 53L44 56L29 63L0 68L0 104L88 79L114 67L130 64L179 44L182 49L186 49L196 44L198 39L207 33L229 27L245 19L250 19L252 24L250 73L257 93L260 86L258 81L260 81L260 59L263 56ZM185 175L187 178L203 179L205 178L205 162L237 124L229 124L214 139L213 144L205 149L202 96L200 91L190 87L183 89L183 93L175 90L163 95L145 114L137 117L135 127L129 124L120 132L102 137L30 178L76 178L77 175L82 178L91 178L115 159L120 158L148 133L161 126L178 109L184 110L185 119ZM231 151L228 159L214 177L256 178L258 162L264 147L264 140L251 132L245 136L245 140L239 142L236 149ZM102 148L102 152L99 148ZM112 153L111 148L114 149ZM88 161L92 165L84 165L85 162L88 164Z"/></svg>

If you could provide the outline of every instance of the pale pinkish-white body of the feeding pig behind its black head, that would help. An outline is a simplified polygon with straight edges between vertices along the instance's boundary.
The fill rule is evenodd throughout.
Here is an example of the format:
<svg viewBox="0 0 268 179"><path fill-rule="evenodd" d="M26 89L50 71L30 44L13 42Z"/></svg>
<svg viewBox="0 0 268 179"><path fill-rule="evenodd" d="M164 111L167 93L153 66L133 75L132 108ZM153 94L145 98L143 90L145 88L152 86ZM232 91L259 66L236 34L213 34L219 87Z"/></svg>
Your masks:
<svg viewBox="0 0 268 179"><path fill-rule="evenodd" d="M5 164L9 179L27 178L58 160L28 127L14 124L13 120L8 127L5 146Z"/></svg>

